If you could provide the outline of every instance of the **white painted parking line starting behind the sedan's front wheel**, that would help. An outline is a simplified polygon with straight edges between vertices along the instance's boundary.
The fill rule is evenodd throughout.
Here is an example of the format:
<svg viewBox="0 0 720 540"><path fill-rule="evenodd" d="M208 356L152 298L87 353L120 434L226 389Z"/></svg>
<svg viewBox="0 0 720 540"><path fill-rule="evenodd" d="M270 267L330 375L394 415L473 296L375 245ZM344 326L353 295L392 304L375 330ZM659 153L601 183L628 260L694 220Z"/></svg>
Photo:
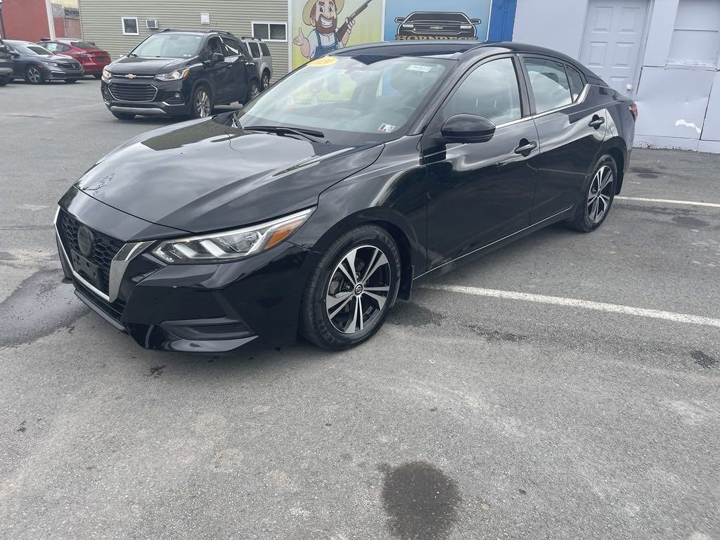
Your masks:
<svg viewBox="0 0 720 540"><path fill-rule="evenodd" d="M528 292L501 291L498 289L481 289L480 287L463 287L462 285L423 285L422 288L446 292L461 292L464 294L474 294L475 296L503 298L505 300L522 300L523 302L535 302L538 304L580 307L584 310L624 313L626 315L636 315L639 317L649 317L652 319L670 320L673 323L689 323L694 325L714 326L716 328L720 328L720 319L701 317L699 315L687 315L685 313L675 313L671 311L646 310L643 307L606 304L605 302L590 302L588 300L546 296L544 294L530 294Z"/></svg>

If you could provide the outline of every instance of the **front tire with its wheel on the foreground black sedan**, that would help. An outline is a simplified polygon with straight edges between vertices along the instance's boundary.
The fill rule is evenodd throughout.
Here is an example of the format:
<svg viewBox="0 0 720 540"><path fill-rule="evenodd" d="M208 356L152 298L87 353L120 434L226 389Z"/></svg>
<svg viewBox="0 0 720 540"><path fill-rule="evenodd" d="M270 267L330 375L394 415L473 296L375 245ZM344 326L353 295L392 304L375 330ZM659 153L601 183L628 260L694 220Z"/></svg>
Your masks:
<svg viewBox="0 0 720 540"><path fill-rule="evenodd" d="M343 274L340 266L346 264L346 257L353 252L356 277L354 282L350 282L346 277L347 271ZM347 270L349 266L343 268ZM370 275L364 275L365 272L370 272ZM368 289L364 290L364 287ZM379 289L385 288L387 296L381 305L373 299L373 295L382 297L384 292L379 292ZM399 288L400 251L390 233L376 225L361 225L348 230L328 247L310 274L302 294L300 333L315 345L333 351L354 347L379 330L395 304ZM327 306L328 301L336 299L331 295L338 297L338 307L330 307L330 312L338 310L333 313L332 320ZM357 306L362 307L361 312ZM338 326L351 331L341 331Z"/></svg>

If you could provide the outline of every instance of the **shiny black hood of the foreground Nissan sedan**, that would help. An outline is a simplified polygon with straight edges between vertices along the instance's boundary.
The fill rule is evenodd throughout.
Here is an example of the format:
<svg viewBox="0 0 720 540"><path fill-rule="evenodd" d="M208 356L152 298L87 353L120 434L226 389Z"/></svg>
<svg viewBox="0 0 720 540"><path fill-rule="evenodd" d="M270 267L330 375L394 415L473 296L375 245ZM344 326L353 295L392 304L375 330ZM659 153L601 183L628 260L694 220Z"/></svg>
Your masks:
<svg viewBox="0 0 720 540"><path fill-rule="evenodd" d="M243 131L231 125L232 115L140 135L102 158L76 187L143 220L205 233L311 207L383 148Z"/></svg>

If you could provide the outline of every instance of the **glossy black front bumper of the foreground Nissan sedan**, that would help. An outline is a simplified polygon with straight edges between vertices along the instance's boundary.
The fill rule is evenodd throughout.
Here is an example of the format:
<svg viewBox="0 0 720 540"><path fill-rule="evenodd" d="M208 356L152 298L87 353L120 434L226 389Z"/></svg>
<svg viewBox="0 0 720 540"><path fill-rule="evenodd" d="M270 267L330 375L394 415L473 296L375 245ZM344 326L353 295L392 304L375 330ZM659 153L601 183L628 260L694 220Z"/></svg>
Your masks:
<svg viewBox="0 0 720 540"><path fill-rule="evenodd" d="M73 268L76 246L63 229L66 215L95 235L122 238L118 245L125 247L111 263L115 282L111 277L96 285ZM124 214L74 188L60 201L55 234L78 298L145 348L214 353L248 343L281 346L297 335L300 297L316 257L305 248L286 242L243 261L165 264L149 253L154 240L138 237L186 233ZM131 253L133 246L140 247Z"/></svg>

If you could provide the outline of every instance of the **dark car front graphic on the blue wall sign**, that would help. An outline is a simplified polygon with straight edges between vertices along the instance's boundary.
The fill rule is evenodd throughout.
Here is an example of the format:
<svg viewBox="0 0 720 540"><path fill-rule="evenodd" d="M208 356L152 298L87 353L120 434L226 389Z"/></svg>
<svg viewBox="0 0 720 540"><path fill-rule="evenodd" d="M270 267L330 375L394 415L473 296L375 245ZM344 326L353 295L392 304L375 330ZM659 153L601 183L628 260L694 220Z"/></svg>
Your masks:
<svg viewBox="0 0 720 540"><path fill-rule="evenodd" d="M461 12L413 12L395 22L395 40L477 40L475 26L482 21Z"/></svg>

